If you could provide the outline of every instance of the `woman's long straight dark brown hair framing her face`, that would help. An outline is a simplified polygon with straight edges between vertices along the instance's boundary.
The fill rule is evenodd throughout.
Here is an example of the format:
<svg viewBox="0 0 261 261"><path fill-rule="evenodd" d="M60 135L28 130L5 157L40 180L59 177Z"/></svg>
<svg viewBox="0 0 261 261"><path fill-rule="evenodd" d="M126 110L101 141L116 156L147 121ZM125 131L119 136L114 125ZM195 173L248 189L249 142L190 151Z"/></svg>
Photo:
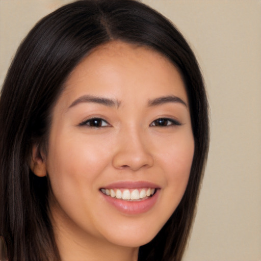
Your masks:
<svg viewBox="0 0 261 261"><path fill-rule="evenodd" d="M208 106L195 56L173 24L133 0L83 0L40 20L10 66L0 100L0 235L10 261L59 260L48 217L49 183L29 167L31 147L48 139L50 111L69 73L96 46L119 40L147 46L179 70L189 97L195 152L175 212L139 260L179 261L191 230L208 150Z"/></svg>

